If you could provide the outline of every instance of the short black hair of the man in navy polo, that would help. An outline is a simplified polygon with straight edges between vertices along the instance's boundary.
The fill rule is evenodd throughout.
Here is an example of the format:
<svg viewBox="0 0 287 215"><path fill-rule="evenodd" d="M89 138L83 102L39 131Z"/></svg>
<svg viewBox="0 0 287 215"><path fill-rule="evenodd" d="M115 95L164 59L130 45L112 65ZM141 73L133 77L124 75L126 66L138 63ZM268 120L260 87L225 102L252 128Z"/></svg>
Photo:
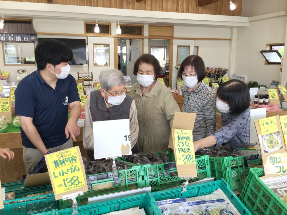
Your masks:
<svg viewBox="0 0 287 215"><path fill-rule="evenodd" d="M41 41L35 48L35 60L37 68L43 70L47 63L56 66L62 62L73 59L72 50L63 42L54 39Z"/></svg>

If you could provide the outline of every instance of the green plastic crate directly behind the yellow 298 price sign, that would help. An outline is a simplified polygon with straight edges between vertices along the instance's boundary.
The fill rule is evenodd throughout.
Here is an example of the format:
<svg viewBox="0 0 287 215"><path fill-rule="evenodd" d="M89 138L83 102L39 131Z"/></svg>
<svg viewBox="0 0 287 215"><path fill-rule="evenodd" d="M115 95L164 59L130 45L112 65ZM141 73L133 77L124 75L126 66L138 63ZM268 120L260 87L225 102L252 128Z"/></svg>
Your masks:
<svg viewBox="0 0 287 215"><path fill-rule="evenodd" d="M169 153L167 151L165 152L168 154L170 163L164 163L158 165L151 165L151 164L138 165L141 166L141 171L144 178L143 186L152 187L152 191L159 191L180 186L185 181L183 179L180 179L177 175L175 176L172 175L173 172L177 172L174 153ZM157 153L157 155L159 155L160 153L162 152ZM211 177L208 157L209 157L208 155L195 156L198 177L190 179L189 182ZM127 162L125 157L117 159Z"/></svg>

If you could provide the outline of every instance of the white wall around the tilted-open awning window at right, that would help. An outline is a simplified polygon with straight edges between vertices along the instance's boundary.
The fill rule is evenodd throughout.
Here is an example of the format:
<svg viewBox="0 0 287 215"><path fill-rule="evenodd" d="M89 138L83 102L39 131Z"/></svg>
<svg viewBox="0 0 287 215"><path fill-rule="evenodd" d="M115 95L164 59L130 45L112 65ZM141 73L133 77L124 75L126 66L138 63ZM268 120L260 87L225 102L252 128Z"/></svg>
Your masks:
<svg viewBox="0 0 287 215"><path fill-rule="evenodd" d="M269 87L272 80L280 81L281 65L265 65L259 51L268 43L284 43L286 16L251 21L249 27L238 28L235 55L235 73L247 75L248 81L257 81Z"/></svg>

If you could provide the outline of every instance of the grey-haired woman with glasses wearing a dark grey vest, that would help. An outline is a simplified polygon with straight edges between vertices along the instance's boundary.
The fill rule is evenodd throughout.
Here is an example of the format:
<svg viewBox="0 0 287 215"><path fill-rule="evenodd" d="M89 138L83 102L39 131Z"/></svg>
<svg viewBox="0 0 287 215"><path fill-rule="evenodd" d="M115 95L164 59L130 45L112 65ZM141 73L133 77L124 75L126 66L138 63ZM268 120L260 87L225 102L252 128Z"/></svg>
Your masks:
<svg viewBox="0 0 287 215"><path fill-rule="evenodd" d="M90 93L85 107L83 144L90 160L94 160L93 122L129 119L132 151L136 148L139 133L135 101L126 94L123 74L116 70L102 71L100 84L102 88Z"/></svg>

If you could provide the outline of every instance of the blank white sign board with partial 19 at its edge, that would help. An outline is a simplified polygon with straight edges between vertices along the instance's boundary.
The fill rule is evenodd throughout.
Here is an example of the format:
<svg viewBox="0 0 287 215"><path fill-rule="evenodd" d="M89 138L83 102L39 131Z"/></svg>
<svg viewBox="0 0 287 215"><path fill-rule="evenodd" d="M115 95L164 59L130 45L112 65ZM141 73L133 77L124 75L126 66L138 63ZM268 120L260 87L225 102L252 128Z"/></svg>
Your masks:
<svg viewBox="0 0 287 215"><path fill-rule="evenodd" d="M93 122L95 159L131 155L129 119Z"/></svg>

